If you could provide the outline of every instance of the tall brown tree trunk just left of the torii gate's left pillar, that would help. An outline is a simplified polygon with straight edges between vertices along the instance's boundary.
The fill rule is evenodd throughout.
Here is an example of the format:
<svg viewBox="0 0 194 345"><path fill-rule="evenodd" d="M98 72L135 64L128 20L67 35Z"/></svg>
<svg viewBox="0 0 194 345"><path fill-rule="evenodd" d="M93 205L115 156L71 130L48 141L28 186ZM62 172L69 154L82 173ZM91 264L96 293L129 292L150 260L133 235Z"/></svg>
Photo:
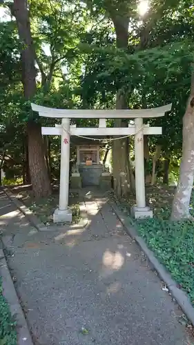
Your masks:
<svg viewBox="0 0 194 345"><path fill-rule="evenodd" d="M28 3L26 0L14 0L10 6L16 18L19 39L21 41L22 83L24 97L31 99L36 92L35 49L30 31ZM32 190L35 197L50 195L48 171L44 159L41 127L35 121L28 121L28 153Z"/></svg>

